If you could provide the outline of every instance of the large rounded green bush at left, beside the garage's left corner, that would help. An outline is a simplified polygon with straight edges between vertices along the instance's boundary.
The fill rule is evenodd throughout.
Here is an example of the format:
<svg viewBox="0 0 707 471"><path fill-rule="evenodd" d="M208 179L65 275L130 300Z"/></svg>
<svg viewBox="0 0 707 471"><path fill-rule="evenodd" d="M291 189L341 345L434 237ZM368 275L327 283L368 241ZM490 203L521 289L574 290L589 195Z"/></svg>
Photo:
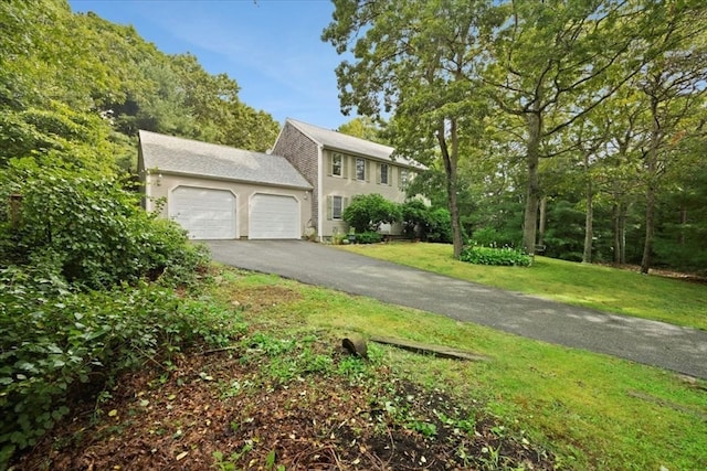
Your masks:
<svg viewBox="0 0 707 471"><path fill-rule="evenodd" d="M0 197L22 196L17 227L0 226L2 260L43 265L68 282L103 288L166 275L189 282L205 261L175 223L145 213L120 182L88 172L11 167Z"/></svg>

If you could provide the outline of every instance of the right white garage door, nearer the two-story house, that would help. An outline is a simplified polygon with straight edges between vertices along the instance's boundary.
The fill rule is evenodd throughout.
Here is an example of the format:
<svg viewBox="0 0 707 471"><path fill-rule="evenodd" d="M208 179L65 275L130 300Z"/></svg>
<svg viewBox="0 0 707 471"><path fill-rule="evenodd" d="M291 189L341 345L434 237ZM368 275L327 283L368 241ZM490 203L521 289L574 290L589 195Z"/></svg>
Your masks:
<svg viewBox="0 0 707 471"><path fill-rule="evenodd" d="M299 238L299 203L293 196L254 194L247 238Z"/></svg>

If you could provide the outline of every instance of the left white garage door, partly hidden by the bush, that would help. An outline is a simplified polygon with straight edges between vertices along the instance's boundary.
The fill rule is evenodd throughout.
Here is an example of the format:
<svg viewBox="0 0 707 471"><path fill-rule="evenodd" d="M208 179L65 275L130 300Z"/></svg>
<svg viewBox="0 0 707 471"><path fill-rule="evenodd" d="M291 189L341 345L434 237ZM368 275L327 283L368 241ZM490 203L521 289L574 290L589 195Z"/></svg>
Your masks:
<svg viewBox="0 0 707 471"><path fill-rule="evenodd" d="M235 195L226 190L177 186L169 200L169 217L190 238L235 238Z"/></svg>

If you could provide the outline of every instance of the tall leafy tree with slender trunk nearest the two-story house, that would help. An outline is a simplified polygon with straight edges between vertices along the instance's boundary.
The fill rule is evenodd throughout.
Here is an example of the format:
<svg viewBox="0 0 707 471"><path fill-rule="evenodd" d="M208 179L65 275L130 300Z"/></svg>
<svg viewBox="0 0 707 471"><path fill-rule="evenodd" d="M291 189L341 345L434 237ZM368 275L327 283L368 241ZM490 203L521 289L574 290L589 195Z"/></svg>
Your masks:
<svg viewBox="0 0 707 471"><path fill-rule="evenodd" d="M379 117L392 111L397 152L446 175L454 256L462 247L457 165L463 141L478 135L483 108L474 86L479 36L493 24L488 0L334 0L323 39L355 62L337 67L341 108Z"/></svg>

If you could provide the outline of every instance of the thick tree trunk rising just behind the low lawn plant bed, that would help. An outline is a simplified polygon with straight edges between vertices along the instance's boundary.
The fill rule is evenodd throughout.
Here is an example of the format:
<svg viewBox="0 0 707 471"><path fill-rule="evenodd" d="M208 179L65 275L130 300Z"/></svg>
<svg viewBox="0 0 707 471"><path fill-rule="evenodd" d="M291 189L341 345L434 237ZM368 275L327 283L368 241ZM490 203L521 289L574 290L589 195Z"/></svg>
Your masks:
<svg viewBox="0 0 707 471"><path fill-rule="evenodd" d="M540 111L527 115L528 121L528 188L526 192L526 212L523 218L523 248L528 255L535 255L536 234L538 227L538 206L540 203L540 133L542 118Z"/></svg>

